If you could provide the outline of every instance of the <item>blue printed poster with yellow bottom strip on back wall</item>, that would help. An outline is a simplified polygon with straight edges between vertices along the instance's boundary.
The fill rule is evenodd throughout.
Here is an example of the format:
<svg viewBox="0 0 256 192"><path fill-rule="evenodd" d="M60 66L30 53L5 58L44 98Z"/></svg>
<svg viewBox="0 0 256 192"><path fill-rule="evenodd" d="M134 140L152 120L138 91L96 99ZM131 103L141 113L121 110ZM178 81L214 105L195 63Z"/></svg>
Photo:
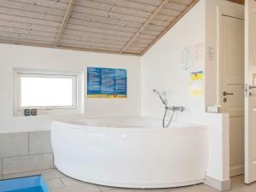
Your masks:
<svg viewBox="0 0 256 192"><path fill-rule="evenodd" d="M88 98L126 98L127 72L118 68L87 68Z"/></svg>

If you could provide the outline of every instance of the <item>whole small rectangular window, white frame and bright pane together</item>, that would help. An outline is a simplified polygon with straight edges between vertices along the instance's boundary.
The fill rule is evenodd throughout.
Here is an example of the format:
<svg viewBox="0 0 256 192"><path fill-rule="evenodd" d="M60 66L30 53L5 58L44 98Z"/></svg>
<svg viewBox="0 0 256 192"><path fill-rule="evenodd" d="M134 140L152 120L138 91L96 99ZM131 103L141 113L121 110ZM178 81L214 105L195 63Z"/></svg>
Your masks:
<svg viewBox="0 0 256 192"><path fill-rule="evenodd" d="M77 109L77 81L74 73L15 70L15 112Z"/></svg>

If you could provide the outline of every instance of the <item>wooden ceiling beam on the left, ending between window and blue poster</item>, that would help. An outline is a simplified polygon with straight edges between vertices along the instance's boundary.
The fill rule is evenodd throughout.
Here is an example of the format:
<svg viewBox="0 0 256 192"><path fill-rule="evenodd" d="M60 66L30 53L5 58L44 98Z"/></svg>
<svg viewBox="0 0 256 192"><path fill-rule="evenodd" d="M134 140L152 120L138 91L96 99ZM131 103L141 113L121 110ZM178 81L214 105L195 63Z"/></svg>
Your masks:
<svg viewBox="0 0 256 192"><path fill-rule="evenodd" d="M71 14L72 14L72 10L73 10L75 1L76 0L69 0L68 6L67 6L67 11L66 11L65 16L61 23L61 28L58 32L56 39L55 39L55 45L54 45L55 47L58 47L59 44L61 43L61 38L62 38L63 32L65 30L65 27L67 26L67 21L69 20Z"/></svg>

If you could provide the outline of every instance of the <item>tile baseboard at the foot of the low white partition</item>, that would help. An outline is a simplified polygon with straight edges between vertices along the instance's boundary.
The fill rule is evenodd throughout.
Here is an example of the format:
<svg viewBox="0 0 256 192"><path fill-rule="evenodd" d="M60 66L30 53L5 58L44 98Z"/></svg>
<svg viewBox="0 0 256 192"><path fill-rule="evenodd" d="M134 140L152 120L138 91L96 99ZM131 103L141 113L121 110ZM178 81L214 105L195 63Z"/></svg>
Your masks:
<svg viewBox="0 0 256 192"><path fill-rule="evenodd" d="M214 189L218 189L219 191L229 191L231 189L230 180L219 181L218 179L206 176L204 183Z"/></svg>

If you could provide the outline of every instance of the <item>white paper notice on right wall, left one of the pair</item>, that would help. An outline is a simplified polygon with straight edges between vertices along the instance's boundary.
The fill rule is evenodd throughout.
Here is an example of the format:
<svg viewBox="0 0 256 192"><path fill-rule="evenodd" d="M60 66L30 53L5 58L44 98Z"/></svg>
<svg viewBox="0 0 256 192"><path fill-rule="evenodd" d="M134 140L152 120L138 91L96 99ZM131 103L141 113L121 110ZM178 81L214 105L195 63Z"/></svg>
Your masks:
<svg viewBox="0 0 256 192"><path fill-rule="evenodd" d="M193 67L193 48L192 46L181 50L181 68L185 70Z"/></svg>

